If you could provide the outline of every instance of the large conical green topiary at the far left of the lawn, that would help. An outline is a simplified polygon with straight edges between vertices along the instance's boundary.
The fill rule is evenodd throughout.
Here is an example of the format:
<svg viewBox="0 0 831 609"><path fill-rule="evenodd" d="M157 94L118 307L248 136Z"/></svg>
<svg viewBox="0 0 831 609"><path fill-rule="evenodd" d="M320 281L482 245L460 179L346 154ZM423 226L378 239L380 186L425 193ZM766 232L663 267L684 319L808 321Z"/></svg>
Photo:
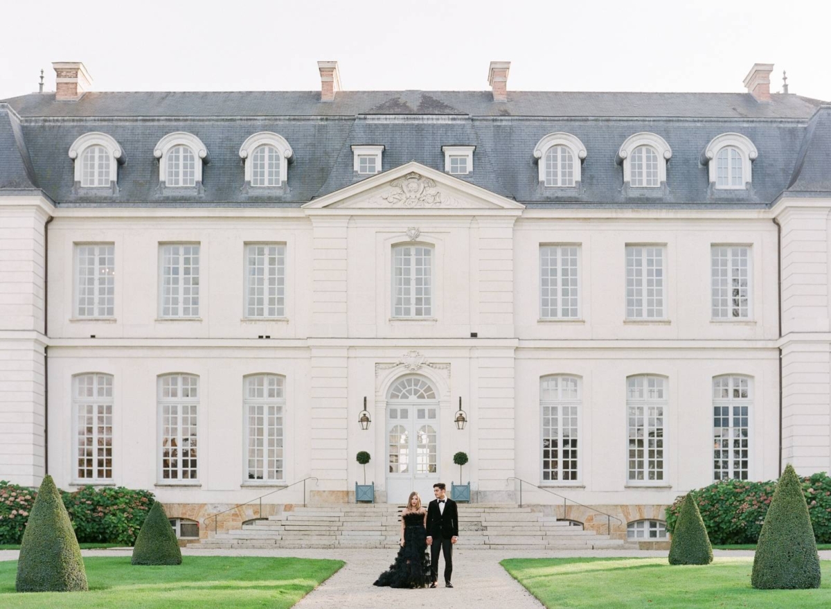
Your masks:
<svg viewBox="0 0 831 609"><path fill-rule="evenodd" d="M52 476L43 478L17 559L17 592L88 590L81 548Z"/></svg>

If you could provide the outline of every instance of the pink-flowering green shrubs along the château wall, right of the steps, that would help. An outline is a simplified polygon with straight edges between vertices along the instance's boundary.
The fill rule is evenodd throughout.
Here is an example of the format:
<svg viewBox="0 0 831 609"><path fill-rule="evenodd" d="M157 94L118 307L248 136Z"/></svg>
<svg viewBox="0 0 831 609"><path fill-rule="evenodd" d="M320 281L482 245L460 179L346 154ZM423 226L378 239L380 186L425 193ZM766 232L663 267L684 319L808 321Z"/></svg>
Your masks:
<svg viewBox="0 0 831 609"><path fill-rule="evenodd" d="M831 542L831 478L825 472L800 478L814 537ZM755 543L765 522L776 482L721 480L693 491L711 543ZM683 496L666 508L666 529L675 527Z"/></svg>

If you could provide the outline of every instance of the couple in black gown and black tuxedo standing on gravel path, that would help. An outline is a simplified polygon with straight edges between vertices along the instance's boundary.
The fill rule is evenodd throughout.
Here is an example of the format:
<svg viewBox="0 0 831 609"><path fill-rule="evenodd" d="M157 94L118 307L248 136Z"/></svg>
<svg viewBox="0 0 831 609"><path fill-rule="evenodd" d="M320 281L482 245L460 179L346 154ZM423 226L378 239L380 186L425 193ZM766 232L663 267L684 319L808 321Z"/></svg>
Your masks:
<svg viewBox="0 0 831 609"><path fill-rule="evenodd" d="M445 587L452 588L453 544L459 539L459 512L447 498L445 483L435 483L435 499L425 509L413 491L401 512L401 549L389 570L381 573L375 586L393 588L435 588L439 579L439 552L445 556ZM430 554L427 547L430 547Z"/></svg>

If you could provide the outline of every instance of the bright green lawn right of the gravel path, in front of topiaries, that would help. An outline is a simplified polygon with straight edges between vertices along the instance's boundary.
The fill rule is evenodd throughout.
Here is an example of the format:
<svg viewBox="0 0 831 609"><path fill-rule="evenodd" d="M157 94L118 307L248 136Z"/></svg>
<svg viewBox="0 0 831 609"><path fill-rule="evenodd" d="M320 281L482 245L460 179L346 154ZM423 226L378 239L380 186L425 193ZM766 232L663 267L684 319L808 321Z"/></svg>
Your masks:
<svg viewBox="0 0 831 609"><path fill-rule="evenodd" d="M755 590L753 559L673 567L666 558L511 558L502 566L553 607L831 607L831 561L819 590Z"/></svg>

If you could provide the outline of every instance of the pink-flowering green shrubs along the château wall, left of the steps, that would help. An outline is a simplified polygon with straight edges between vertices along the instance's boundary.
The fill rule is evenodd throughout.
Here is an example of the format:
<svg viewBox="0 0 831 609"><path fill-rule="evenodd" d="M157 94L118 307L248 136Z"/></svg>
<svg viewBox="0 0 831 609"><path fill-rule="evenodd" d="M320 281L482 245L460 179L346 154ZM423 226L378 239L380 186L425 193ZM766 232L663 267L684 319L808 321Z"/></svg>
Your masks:
<svg viewBox="0 0 831 609"><path fill-rule="evenodd" d="M0 544L20 543L37 491L0 480ZM123 543L132 546L153 493L129 488L84 487L61 493L78 542Z"/></svg>

